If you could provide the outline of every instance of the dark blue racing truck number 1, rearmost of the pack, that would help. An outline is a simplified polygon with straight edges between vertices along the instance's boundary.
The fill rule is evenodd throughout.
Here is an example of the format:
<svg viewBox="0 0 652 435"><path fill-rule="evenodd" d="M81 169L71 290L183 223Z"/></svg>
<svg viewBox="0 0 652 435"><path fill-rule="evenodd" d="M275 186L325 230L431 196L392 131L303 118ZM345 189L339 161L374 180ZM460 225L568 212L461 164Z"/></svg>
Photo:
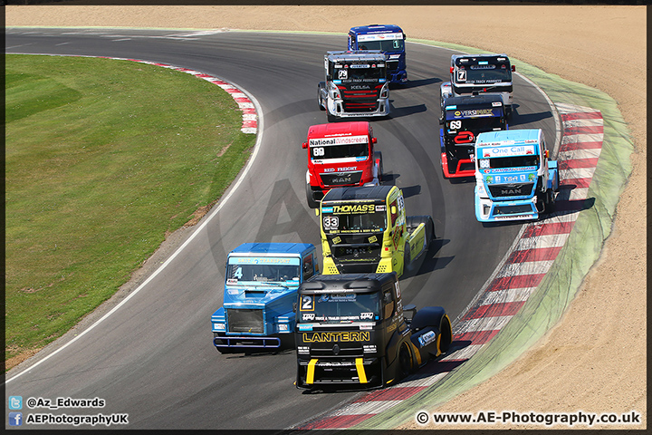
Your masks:
<svg viewBox="0 0 652 435"><path fill-rule="evenodd" d="M408 82L405 39L406 35L398 25L359 25L350 28L349 50L380 50L387 55L388 81L404 83Z"/></svg>

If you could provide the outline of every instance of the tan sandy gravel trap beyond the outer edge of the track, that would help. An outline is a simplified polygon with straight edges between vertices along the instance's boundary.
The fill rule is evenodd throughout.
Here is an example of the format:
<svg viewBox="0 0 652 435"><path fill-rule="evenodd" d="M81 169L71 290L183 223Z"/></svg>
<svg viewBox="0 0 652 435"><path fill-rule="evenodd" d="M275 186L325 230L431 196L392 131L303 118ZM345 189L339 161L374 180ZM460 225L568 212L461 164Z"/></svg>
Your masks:
<svg viewBox="0 0 652 435"><path fill-rule="evenodd" d="M647 25L645 6L6 6L6 25L143 26L323 31L399 24L408 39L508 53L609 93L632 131L633 172L611 237L570 309L540 343L438 410L617 412L647 428ZM443 18L448 17L448 20ZM455 28L454 18L464 18ZM473 23L473 25L471 25ZM594 428L623 429L600 425ZM419 428L408 422L402 429ZM433 426L427 428L433 429ZM438 425L436 429L541 429ZM587 429L587 426L574 426ZM628 428L634 429L631 426ZM558 427L557 429L564 429Z"/></svg>

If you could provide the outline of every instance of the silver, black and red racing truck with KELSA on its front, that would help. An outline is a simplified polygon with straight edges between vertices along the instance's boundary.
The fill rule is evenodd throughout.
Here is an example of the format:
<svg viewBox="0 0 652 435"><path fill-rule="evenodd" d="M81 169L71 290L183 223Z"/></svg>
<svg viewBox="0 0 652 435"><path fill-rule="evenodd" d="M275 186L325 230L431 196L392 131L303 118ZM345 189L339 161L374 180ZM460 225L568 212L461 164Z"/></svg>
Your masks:
<svg viewBox="0 0 652 435"><path fill-rule="evenodd" d="M388 116L389 86L385 54L379 50L327 52L326 81L317 101L329 122L338 118Z"/></svg>

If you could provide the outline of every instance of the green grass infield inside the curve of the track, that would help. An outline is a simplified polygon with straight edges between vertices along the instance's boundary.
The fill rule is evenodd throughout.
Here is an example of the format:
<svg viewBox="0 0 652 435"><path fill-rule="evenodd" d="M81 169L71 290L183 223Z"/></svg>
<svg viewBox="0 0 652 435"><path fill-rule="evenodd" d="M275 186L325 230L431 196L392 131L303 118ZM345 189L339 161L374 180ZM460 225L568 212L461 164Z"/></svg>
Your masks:
<svg viewBox="0 0 652 435"><path fill-rule="evenodd" d="M131 61L5 55L5 107L6 362L113 295L255 135L215 84Z"/></svg>

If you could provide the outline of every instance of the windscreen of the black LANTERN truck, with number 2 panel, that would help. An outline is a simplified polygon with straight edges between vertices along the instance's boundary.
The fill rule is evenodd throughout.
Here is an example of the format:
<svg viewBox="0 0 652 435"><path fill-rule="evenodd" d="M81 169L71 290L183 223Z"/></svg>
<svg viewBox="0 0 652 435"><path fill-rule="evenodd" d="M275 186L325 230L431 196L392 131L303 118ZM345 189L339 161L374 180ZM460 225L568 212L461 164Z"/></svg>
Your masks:
<svg viewBox="0 0 652 435"><path fill-rule="evenodd" d="M312 297L313 301L308 301ZM379 294L302 295L302 310L313 304L315 322L372 322L380 312ZM312 316L311 316L312 317Z"/></svg>

